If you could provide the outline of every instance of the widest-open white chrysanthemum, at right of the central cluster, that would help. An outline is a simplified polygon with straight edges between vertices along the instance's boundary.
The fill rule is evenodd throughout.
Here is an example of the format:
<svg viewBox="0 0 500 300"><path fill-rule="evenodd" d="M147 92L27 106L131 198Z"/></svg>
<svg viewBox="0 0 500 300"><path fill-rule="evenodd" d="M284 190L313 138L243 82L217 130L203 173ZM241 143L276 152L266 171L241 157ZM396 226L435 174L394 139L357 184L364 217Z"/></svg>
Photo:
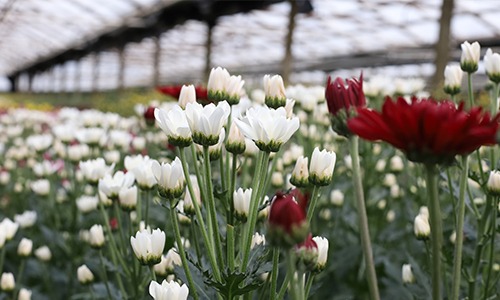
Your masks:
<svg viewBox="0 0 500 300"><path fill-rule="evenodd" d="M236 119L235 122L245 137L253 140L260 150L268 152L277 152L300 126L297 117L286 117L283 107L253 107L243 119Z"/></svg>

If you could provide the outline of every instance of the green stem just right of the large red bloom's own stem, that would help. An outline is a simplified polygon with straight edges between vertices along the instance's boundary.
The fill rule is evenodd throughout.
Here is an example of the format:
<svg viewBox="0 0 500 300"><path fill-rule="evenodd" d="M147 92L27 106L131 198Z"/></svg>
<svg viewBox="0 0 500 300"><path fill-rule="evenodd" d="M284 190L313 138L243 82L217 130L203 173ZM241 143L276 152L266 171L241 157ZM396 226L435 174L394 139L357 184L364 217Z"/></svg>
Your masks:
<svg viewBox="0 0 500 300"><path fill-rule="evenodd" d="M462 247L464 241L464 218L465 218L465 189L469 175L468 156L462 156L462 173L460 174L460 192L458 198L458 215L456 219L456 240L455 240L455 259L453 264L453 283L451 299L459 299L460 279L462 274Z"/></svg>

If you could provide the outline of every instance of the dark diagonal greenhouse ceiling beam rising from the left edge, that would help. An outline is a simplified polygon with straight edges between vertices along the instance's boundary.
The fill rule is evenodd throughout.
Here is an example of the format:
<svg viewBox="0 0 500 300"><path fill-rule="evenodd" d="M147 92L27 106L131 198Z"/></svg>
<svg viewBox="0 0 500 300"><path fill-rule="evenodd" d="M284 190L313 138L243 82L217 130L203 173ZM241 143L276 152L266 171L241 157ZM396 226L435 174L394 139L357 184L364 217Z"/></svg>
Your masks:
<svg viewBox="0 0 500 300"><path fill-rule="evenodd" d="M167 5L158 11L137 18L133 24L110 30L95 39L77 47L66 49L57 54L43 57L36 62L23 66L8 77L16 78L20 74L36 74L49 70L51 67L67 61L79 60L91 53L109 49L120 49L128 43L140 42L144 38L155 37L159 34L182 24L187 20L199 20L207 23L216 22L224 15L248 12L254 9L265 8L271 4L284 0L255 0L255 1L224 1L224 0L184 0ZM135 20L135 19L134 19Z"/></svg>

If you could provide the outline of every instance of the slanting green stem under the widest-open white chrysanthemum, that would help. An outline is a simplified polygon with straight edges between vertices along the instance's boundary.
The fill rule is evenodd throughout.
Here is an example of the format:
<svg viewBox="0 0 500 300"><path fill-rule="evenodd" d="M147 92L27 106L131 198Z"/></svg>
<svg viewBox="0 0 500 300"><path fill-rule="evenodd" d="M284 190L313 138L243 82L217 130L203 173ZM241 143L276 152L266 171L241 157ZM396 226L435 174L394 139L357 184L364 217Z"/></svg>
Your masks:
<svg viewBox="0 0 500 300"><path fill-rule="evenodd" d="M243 246L243 260L241 263L242 272L246 271L248 259L250 255L250 246L252 244L252 236L257 223L257 216L260 203L260 189L265 185L265 169L269 160L269 152L259 151L257 163L255 164L255 174L252 182L252 196L250 197L250 211L248 214L246 236ZM264 178L264 180L262 180Z"/></svg>

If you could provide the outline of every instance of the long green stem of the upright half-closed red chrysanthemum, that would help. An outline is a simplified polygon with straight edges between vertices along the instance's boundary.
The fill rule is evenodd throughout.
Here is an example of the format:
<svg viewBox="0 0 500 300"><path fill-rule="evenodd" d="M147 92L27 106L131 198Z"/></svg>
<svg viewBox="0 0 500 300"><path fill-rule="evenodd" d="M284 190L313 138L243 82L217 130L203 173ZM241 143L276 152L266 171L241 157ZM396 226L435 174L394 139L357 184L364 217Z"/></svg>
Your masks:
<svg viewBox="0 0 500 300"><path fill-rule="evenodd" d="M372 246L370 241L370 231L368 229L368 216L366 215L365 196L363 193L363 184L361 182L361 170L359 166L359 151L358 137L350 138L350 154L352 158L352 180L354 184L354 193L356 198L356 206L358 209L359 229L361 235L361 246L366 265L366 277L370 290L371 299L379 300L380 295L377 284L377 273L375 272L375 264L373 262Z"/></svg>

